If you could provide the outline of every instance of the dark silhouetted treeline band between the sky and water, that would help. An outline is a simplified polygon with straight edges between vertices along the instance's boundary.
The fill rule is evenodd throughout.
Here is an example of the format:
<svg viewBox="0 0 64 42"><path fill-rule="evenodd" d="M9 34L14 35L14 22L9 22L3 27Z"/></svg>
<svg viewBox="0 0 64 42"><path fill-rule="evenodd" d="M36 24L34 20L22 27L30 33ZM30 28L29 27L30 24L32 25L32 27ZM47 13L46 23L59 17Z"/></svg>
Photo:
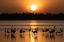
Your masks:
<svg viewBox="0 0 64 42"><path fill-rule="evenodd" d="M64 13L2 13L0 20L64 20Z"/></svg>

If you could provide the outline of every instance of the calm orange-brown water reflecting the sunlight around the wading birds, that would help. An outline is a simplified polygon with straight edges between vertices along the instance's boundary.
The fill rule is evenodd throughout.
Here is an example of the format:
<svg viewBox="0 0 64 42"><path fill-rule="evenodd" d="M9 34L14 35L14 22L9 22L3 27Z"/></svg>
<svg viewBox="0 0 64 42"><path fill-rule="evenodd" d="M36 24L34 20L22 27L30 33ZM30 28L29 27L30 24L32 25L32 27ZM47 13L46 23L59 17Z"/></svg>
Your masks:
<svg viewBox="0 0 64 42"><path fill-rule="evenodd" d="M64 28L64 20L17 20L17 21L0 21L0 42L64 42L64 32L60 34L42 32L41 29L54 28L59 31L59 28ZM38 33L32 33L25 30L25 33L20 34L19 30L15 34L5 33L4 28L38 28ZM63 29L64 30L64 29Z"/></svg>

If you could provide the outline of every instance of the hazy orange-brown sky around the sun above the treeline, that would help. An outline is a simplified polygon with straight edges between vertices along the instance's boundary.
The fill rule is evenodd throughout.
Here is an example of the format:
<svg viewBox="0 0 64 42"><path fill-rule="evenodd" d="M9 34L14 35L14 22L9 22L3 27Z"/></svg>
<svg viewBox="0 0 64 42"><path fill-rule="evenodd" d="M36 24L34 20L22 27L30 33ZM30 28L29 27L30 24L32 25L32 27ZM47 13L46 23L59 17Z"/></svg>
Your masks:
<svg viewBox="0 0 64 42"><path fill-rule="evenodd" d="M31 5L37 9L32 11ZM64 13L64 0L0 0L0 13Z"/></svg>

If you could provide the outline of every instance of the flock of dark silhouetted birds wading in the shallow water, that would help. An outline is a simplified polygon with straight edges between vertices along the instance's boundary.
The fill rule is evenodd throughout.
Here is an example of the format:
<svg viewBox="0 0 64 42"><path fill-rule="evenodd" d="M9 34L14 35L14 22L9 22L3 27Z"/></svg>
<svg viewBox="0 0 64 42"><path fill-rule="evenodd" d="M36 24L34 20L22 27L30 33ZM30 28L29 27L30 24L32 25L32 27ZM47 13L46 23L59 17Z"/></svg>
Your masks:
<svg viewBox="0 0 64 42"><path fill-rule="evenodd" d="M32 30L31 28L29 28L28 32L32 32L32 33L38 33L39 29L38 28L35 28L34 30ZM41 29L42 32L49 32L50 35L53 34L54 32L56 34L60 34L60 33L63 33L63 28L60 28L59 31L56 31L56 28L54 26L53 29L49 29L49 28L46 28L45 30L44 29ZM11 31L9 31L8 29L5 28L5 33L15 33L16 32L16 28L11 28ZM26 31L24 29L20 29L19 33L25 33Z"/></svg>

